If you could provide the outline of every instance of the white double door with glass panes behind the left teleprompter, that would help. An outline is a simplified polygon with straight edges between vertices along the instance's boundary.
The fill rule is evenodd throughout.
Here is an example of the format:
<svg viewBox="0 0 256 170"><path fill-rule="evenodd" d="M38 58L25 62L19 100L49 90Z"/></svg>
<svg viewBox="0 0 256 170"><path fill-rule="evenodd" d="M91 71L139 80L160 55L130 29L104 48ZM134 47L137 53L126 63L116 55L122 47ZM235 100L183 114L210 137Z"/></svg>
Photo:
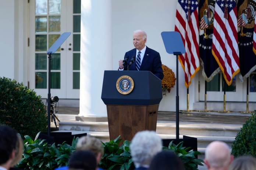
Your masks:
<svg viewBox="0 0 256 170"><path fill-rule="evenodd" d="M80 5L80 6L79 6ZM81 0L30 0L29 88L47 98L47 49L64 32L71 35L52 55L51 96L79 99Z"/></svg>

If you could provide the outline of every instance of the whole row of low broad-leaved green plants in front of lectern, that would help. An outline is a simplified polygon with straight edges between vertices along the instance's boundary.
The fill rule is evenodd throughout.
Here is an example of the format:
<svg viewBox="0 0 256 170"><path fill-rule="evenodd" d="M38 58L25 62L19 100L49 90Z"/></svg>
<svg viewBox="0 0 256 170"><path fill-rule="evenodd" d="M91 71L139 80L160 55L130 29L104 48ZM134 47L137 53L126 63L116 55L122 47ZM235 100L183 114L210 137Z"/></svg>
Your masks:
<svg viewBox="0 0 256 170"><path fill-rule="evenodd" d="M39 135L39 134L38 134ZM70 155L75 151L78 138L74 138L72 145L59 144L57 147L53 144L47 144L45 140L35 140L31 137L25 136L24 140L24 154L18 168L24 170L50 170L60 166L67 166ZM133 170L134 163L131 159L129 150L130 141L124 141L119 147L121 139L117 137L106 143L102 143L104 147L104 155L99 163L99 167L106 170ZM190 150L189 148L182 147L182 142L178 145L169 144L169 147L163 149L170 149L174 151L185 165L186 170L196 170L197 165L202 165L203 160L196 159L195 155L200 154Z"/></svg>

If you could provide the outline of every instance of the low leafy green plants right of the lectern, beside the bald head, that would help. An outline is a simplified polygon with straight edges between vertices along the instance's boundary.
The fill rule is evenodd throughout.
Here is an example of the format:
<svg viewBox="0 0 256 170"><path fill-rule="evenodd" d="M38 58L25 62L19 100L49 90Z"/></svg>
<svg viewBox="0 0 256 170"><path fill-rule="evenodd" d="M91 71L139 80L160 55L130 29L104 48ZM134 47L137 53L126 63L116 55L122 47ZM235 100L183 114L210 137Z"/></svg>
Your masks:
<svg viewBox="0 0 256 170"><path fill-rule="evenodd" d="M197 170L197 165L203 165L202 159L196 159L195 155L200 155L200 152L189 150L190 147L182 147L183 142L180 142L178 145L175 145L173 141L170 142L168 148L163 147L163 149L170 149L175 152L176 155L181 159L185 165L186 170Z"/></svg>

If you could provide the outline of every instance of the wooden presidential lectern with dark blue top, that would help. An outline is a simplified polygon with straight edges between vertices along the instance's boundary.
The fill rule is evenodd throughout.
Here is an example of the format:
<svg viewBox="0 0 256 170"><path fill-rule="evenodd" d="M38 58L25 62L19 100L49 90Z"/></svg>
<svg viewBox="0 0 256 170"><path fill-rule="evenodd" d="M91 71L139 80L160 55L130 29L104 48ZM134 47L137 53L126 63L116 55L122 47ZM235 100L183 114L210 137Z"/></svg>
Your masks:
<svg viewBox="0 0 256 170"><path fill-rule="evenodd" d="M117 90L117 81L124 75L132 78L134 84L126 95ZM156 131L158 107L163 97L161 87L161 80L150 71L104 72L102 100L107 105L110 140L121 135L123 140L131 141L139 131Z"/></svg>

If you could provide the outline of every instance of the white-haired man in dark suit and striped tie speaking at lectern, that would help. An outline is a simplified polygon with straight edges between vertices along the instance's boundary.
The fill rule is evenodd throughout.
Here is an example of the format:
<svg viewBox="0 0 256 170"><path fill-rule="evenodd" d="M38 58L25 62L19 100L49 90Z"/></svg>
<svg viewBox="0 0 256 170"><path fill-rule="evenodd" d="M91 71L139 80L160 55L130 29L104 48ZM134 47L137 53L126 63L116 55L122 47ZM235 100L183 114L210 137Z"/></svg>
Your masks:
<svg viewBox="0 0 256 170"><path fill-rule="evenodd" d="M154 75L160 78L160 80L163 80L164 74L160 54L159 52L146 47L146 42L146 32L136 30L133 33L133 44L135 48L126 52L124 59L128 58L127 63L129 63L132 58L136 56L136 59L129 67L129 70L151 71ZM118 63L118 70L128 70L127 65L123 63L123 60L119 60Z"/></svg>

